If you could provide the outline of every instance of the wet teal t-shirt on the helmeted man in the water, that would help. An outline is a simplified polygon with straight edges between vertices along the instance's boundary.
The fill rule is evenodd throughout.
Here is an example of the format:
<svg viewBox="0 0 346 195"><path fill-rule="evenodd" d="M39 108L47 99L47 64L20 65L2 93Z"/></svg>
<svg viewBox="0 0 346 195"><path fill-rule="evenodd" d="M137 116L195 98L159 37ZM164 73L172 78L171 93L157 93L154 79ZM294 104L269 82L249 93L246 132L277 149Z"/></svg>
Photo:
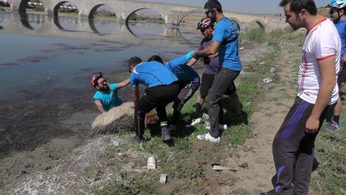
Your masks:
<svg viewBox="0 0 346 195"><path fill-rule="evenodd" d="M123 101L118 97L118 83L109 84L109 91L97 91L94 94L94 101L100 101L105 111L119 106Z"/></svg>

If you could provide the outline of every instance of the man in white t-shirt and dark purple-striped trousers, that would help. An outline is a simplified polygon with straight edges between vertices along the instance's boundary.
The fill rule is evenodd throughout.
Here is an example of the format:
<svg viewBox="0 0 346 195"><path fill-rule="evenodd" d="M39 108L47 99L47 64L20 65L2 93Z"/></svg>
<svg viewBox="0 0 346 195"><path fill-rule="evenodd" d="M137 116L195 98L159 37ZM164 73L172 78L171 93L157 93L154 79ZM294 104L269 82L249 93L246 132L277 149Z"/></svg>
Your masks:
<svg viewBox="0 0 346 195"><path fill-rule="evenodd" d="M315 138L329 107L338 101L336 85L341 42L334 24L317 14L314 0L281 0L293 30L305 28L298 96L273 141L277 195L308 195ZM295 168L293 168L295 164Z"/></svg>

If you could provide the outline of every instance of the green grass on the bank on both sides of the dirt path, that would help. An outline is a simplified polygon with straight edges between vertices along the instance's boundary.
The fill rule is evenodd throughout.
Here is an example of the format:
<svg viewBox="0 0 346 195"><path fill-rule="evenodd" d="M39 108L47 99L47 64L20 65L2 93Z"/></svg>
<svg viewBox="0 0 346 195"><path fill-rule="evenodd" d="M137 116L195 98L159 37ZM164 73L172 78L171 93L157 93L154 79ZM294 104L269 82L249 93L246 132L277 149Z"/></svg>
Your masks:
<svg viewBox="0 0 346 195"><path fill-rule="evenodd" d="M247 36L244 34L244 36ZM261 102L265 99L261 98L269 90L274 90L263 84L262 79L266 77L273 78L277 84L288 86L290 84L282 83L283 78L278 73L271 73L270 68L276 65L276 61L280 55L290 53L297 57L301 56L301 46L305 32L292 32L290 29L270 32L264 34L262 41L268 44L268 52L264 55L257 56L256 60L248 65L246 74L241 75L237 80L237 93L243 105L243 110L247 113L248 118L252 113L257 111ZM282 51L282 43L290 43L293 45L287 51ZM294 64L298 64L300 58L292 59ZM265 62L264 64L262 62ZM296 70L291 74L296 75ZM291 84L295 85L295 84ZM291 86L288 86L291 87ZM287 98L277 98L276 103L287 100ZM182 119L190 122L195 118L196 95L189 100L182 111ZM252 103L249 103L252 102ZM228 98L222 99L222 105L231 108L232 102ZM171 106L167 106L168 115L172 115ZM206 106L203 110L206 112ZM343 111L345 114L345 111ZM270 116L268 116L270 117ZM151 137L144 144L127 144L121 147L125 150L155 156L157 159L158 169L153 171L142 171L123 169L126 164L134 163L145 165L146 159L136 162L132 160L124 160L124 164L117 164L123 170L120 180L114 181L106 188L92 188L96 194L112 195L112 194L191 194L191 193L211 193L207 191L207 185L203 181L211 181L215 179L215 175L210 172L210 166L214 163L220 163L230 156L230 150L242 147L244 142L252 136L253 127L242 124L241 120L233 112L226 112L225 118L229 127L224 130L220 143L201 142L196 139L197 134L206 133L207 130L202 125L194 128L186 129L184 127L173 131L173 144L164 144L161 141L160 133L151 137L149 130L146 130L145 137ZM346 124L345 117L342 123ZM131 139L133 134L122 134L124 139ZM345 129L336 132L327 132L321 130L316 140L316 159L319 162L317 170L313 174L311 188L315 192L324 192L330 194L341 194L345 188ZM113 157L115 149L109 149L106 156ZM111 158L109 158L111 159ZM111 162L109 162L111 163ZM167 174L167 183L160 184L158 182L160 173ZM214 177L214 178L213 178ZM270 182L270 181L268 181ZM235 189L235 195L250 195L244 189Z"/></svg>

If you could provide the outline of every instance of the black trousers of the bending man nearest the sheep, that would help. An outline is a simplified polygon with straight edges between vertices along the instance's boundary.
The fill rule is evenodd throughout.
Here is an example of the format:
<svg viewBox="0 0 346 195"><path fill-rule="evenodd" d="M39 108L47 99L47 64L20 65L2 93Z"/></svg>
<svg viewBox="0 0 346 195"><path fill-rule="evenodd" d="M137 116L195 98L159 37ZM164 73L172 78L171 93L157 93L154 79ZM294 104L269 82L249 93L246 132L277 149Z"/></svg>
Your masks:
<svg viewBox="0 0 346 195"><path fill-rule="evenodd" d="M145 94L139 100L134 112L136 134L143 135L145 130L145 114L156 108L157 117L161 126L167 125L166 105L178 96L179 84L160 85L145 89Z"/></svg>

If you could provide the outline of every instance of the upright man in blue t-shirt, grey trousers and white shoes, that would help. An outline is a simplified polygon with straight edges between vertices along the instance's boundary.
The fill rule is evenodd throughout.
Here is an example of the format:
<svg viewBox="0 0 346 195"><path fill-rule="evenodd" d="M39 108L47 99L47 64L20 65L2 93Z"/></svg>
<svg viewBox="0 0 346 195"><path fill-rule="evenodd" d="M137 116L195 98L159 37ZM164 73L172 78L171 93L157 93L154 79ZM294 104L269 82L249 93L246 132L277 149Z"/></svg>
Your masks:
<svg viewBox="0 0 346 195"><path fill-rule="evenodd" d="M210 118L209 133L197 135L200 140L220 142L220 100L230 85L242 70L242 63L238 55L238 30L237 26L223 15L221 4L218 0L208 0L204 8L206 15L213 22L218 22L215 28L212 44L194 53L195 58L211 56L219 53L221 69L216 74L212 87L206 98L208 115Z"/></svg>

